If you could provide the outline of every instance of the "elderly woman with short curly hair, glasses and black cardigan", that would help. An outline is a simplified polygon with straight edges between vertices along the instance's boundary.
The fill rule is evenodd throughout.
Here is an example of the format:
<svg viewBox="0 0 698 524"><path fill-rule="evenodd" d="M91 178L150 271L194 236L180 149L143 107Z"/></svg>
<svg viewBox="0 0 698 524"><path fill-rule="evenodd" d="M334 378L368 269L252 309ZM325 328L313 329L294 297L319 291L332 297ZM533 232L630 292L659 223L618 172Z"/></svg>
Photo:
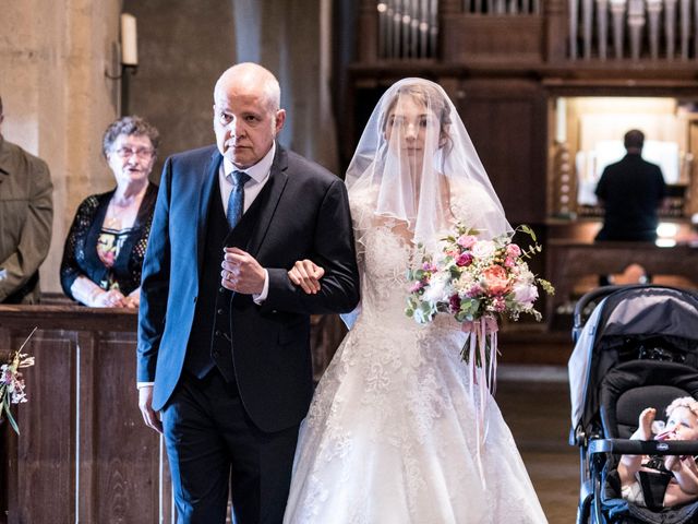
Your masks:
<svg viewBox="0 0 698 524"><path fill-rule="evenodd" d="M158 143L157 129L140 117L123 117L107 128L103 153L117 187L88 196L77 209L61 262L69 297L95 308L139 307L157 198L148 175Z"/></svg>

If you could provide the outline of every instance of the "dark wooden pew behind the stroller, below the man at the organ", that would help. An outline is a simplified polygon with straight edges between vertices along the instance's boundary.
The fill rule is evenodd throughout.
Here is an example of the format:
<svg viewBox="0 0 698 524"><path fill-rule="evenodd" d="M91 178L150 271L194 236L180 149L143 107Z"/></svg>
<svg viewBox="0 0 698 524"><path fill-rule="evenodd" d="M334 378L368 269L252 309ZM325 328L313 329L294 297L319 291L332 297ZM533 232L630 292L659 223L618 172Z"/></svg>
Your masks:
<svg viewBox="0 0 698 524"><path fill-rule="evenodd" d="M546 302L549 322L583 276L622 273L628 265L638 263L651 275L678 275L698 282L698 248L687 243L660 248L651 242L588 243L553 239L546 242L545 253L546 277L555 286L555 296Z"/></svg>

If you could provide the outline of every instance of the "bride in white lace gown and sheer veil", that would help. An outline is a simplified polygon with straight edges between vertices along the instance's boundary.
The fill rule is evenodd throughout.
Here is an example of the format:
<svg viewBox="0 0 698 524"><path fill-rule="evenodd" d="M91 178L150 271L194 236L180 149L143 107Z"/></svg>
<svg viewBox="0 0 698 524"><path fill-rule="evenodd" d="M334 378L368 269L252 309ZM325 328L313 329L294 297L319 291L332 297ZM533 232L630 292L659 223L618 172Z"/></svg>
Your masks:
<svg viewBox="0 0 698 524"><path fill-rule="evenodd" d="M405 314L418 242L434 248L456 221L480 238L512 231L446 93L421 79L393 85L346 181L361 306L301 427L284 522L545 523L491 397L478 445L481 398L460 359L460 326ZM290 272L311 289L321 274L309 261Z"/></svg>

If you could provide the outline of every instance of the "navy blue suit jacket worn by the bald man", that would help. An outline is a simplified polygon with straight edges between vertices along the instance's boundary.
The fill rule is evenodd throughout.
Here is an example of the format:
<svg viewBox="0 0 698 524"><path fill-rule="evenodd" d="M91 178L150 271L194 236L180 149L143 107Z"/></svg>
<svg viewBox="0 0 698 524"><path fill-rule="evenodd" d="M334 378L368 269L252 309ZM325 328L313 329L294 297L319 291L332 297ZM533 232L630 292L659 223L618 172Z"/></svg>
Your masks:
<svg viewBox="0 0 698 524"><path fill-rule="evenodd" d="M221 160L209 146L165 163L143 264L137 343L137 380L155 382L156 410L182 373L200 294L207 206ZM299 424L312 397L310 314L351 311L359 301L359 276L342 181L277 144L267 184L269 198L248 251L268 271L269 293L262 306L233 294L231 352L248 415L260 429L278 431ZM302 259L325 269L316 295L288 279L287 271Z"/></svg>

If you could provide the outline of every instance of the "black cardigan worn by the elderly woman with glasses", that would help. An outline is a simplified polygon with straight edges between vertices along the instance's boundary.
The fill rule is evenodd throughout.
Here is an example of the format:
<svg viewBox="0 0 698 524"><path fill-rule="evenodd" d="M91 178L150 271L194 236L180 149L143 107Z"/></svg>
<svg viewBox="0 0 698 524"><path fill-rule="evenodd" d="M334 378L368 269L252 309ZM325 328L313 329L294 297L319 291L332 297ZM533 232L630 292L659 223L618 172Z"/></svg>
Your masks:
<svg viewBox="0 0 698 524"><path fill-rule="evenodd" d="M75 297L70 288L75 278L81 275L104 288L104 283L111 272L113 279L119 284L119 289L127 296L141 285L141 269L153 223L157 186L148 183L133 224L133 230L119 251L113 266L107 267L97 254L97 239L115 191L116 189L87 196L75 213L75 218L65 239L61 262L61 286L65 295L72 299Z"/></svg>

